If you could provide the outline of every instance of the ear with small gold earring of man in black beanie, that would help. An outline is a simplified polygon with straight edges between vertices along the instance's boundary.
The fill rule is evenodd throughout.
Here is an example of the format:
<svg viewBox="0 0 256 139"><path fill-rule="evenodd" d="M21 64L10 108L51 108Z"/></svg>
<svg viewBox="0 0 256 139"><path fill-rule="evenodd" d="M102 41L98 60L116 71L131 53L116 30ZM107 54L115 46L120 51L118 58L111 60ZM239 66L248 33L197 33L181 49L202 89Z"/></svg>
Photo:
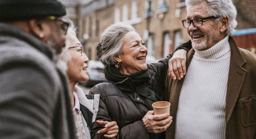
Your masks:
<svg viewBox="0 0 256 139"><path fill-rule="evenodd" d="M44 40L45 36L47 35L45 32L46 24L43 20L40 19L30 19L28 20L28 25L30 32L36 36L37 38Z"/></svg>

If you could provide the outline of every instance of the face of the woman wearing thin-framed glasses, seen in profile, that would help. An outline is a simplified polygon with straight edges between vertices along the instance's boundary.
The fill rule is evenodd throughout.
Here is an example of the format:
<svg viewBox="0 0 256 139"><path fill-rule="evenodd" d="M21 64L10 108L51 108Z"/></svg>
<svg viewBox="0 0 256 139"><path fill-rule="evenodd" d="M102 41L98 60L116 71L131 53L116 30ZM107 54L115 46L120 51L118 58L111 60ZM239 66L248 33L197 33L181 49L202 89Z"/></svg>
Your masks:
<svg viewBox="0 0 256 139"><path fill-rule="evenodd" d="M70 40L70 48L68 49L68 52L71 56L71 61L69 62L67 69L69 79L73 82L88 81L88 57L85 53L83 53L83 55L81 53L83 46L74 35L70 35L67 39Z"/></svg>

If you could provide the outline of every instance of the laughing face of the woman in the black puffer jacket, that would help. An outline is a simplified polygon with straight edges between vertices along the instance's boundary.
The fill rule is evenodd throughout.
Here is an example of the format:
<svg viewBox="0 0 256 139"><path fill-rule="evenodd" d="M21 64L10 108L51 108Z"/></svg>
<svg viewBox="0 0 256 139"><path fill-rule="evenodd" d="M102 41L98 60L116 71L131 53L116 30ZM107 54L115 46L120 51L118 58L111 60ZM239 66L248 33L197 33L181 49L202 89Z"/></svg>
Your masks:
<svg viewBox="0 0 256 139"><path fill-rule="evenodd" d="M124 35L123 53L115 58L119 61L119 71L123 74L134 74L146 70L147 48L137 32L128 32Z"/></svg>

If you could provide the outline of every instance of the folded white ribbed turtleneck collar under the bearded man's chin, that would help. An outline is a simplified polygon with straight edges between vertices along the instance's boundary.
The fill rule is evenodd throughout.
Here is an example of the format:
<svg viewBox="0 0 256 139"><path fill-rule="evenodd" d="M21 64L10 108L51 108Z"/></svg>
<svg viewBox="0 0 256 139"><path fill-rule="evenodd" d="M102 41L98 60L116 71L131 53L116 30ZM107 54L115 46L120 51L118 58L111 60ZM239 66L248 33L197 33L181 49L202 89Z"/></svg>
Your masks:
<svg viewBox="0 0 256 139"><path fill-rule="evenodd" d="M219 41L217 44L213 45L213 47L207 50L196 50L195 49L195 57L202 59L219 59L222 58L225 54L230 52L230 45L228 42L228 37L226 36L223 40Z"/></svg>

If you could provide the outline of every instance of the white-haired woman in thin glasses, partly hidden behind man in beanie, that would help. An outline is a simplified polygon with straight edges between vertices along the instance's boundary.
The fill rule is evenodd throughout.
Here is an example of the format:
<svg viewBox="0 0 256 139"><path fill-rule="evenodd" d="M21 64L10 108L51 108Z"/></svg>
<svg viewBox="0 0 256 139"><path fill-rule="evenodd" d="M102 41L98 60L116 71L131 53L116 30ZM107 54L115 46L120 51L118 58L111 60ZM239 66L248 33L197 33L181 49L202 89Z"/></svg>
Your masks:
<svg viewBox="0 0 256 139"><path fill-rule="evenodd" d="M70 20L69 20L70 21ZM100 94L85 95L83 90L76 86L79 82L89 80L87 63L88 57L84 48L76 37L76 27L70 21L70 26L66 35L66 46L61 53L61 59L67 63L67 75L69 77L71 104L73 107L76 135L78 139L91 139L90 131L92 122L98 113ZM106 132L112 131L107 138L113 138L118 133L118 126L115 121L97 121L104 123Z"/></svg>

